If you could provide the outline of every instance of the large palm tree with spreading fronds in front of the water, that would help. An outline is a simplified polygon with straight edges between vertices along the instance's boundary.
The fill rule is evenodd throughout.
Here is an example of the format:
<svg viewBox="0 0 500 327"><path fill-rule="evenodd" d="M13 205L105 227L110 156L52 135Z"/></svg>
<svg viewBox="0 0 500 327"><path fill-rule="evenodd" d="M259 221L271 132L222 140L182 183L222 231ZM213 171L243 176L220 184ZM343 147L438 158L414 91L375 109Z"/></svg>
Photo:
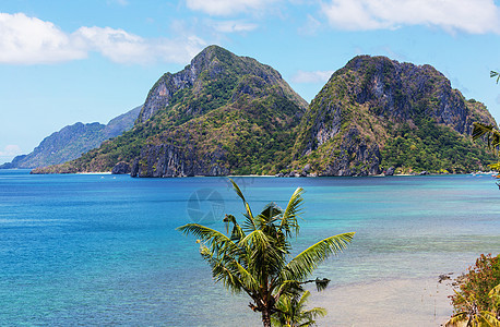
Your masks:
<svg viewBox="0 0 500 327"><path fill-rule="evenodd" d="M200 253L212 267L214 280L235 293L247 293L250 308L260 312L264 326L271 326L271 316L279 312L282 296L293 296L302 284L316 282L324 289L328 279L307 280L310 274L330 255L342 252L354 232L326 238L290 258L290 239L298 235L298 217L303 202L303 190L298 187L285 209L271 203L257 216L250 209L241 190L230 180L245 206L245 222L226 215L226 234L209 227L188 223L179 227L184 234L199 238Z"/></svg>

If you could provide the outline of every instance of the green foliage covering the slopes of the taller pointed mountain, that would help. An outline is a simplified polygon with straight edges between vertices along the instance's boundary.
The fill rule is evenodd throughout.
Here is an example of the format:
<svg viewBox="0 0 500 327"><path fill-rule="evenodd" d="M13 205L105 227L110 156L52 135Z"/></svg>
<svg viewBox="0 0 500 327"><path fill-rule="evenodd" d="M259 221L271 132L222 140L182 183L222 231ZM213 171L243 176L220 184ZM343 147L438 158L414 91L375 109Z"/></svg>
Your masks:
<svg viewBox="0 0 500 327"><path fill-rule="evenodd" d="M146 145L170 144L195 145L200 161L223 149L231 173L274 173L284 167L305 101L272 68L219 47L209 47L192 64L195 81L177 90L168 106L69 165L75 171L109 171L118 161L132 164ZM165 74L153 88L171 86L174 76Z"/></svg>

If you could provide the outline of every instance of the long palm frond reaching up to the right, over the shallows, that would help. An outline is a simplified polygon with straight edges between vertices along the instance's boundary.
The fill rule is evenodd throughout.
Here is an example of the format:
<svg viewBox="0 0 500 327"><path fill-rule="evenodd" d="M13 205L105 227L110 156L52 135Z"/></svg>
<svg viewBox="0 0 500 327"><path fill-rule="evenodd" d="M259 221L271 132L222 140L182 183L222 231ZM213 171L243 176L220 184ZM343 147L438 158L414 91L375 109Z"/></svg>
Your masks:
<svg viewBox="0 0 500 327"><path fill-rule="evenodd" d="M306 279L330 255L336 255L346 249L354 234L349 232L330 237L309 246L286 265L283 270L284 279Z"/></svg>

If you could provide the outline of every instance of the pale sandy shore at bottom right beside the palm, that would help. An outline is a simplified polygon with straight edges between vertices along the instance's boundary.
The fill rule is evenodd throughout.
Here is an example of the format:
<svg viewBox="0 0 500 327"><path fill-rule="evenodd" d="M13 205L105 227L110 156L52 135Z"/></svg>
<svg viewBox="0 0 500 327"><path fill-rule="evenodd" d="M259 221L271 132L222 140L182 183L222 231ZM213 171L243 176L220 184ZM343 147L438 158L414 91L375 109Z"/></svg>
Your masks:
<svg viewBox="0 0 500 327"><path fill-rule="evenodd" d="M451 281L394 279L335 287L311 296L328 315L318 326L440 326L452 314Z"/></svg>

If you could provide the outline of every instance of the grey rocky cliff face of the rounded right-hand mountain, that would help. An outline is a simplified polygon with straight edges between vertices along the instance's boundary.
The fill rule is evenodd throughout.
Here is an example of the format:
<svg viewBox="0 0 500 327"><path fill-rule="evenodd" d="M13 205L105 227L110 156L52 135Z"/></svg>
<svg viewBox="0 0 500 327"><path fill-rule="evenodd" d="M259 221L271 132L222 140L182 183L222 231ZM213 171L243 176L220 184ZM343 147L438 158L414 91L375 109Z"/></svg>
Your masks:
<svg viewBox="0 0 500 327"><path fill-rule="evenodd" d="M495 123L432 66L356 57L332 75L303 116L294 167L310 165L320 175L377 174L389 168L381 167L381 150L403 125L417 133L431 123L460 138L471 134L473 121Z"/></svg>

